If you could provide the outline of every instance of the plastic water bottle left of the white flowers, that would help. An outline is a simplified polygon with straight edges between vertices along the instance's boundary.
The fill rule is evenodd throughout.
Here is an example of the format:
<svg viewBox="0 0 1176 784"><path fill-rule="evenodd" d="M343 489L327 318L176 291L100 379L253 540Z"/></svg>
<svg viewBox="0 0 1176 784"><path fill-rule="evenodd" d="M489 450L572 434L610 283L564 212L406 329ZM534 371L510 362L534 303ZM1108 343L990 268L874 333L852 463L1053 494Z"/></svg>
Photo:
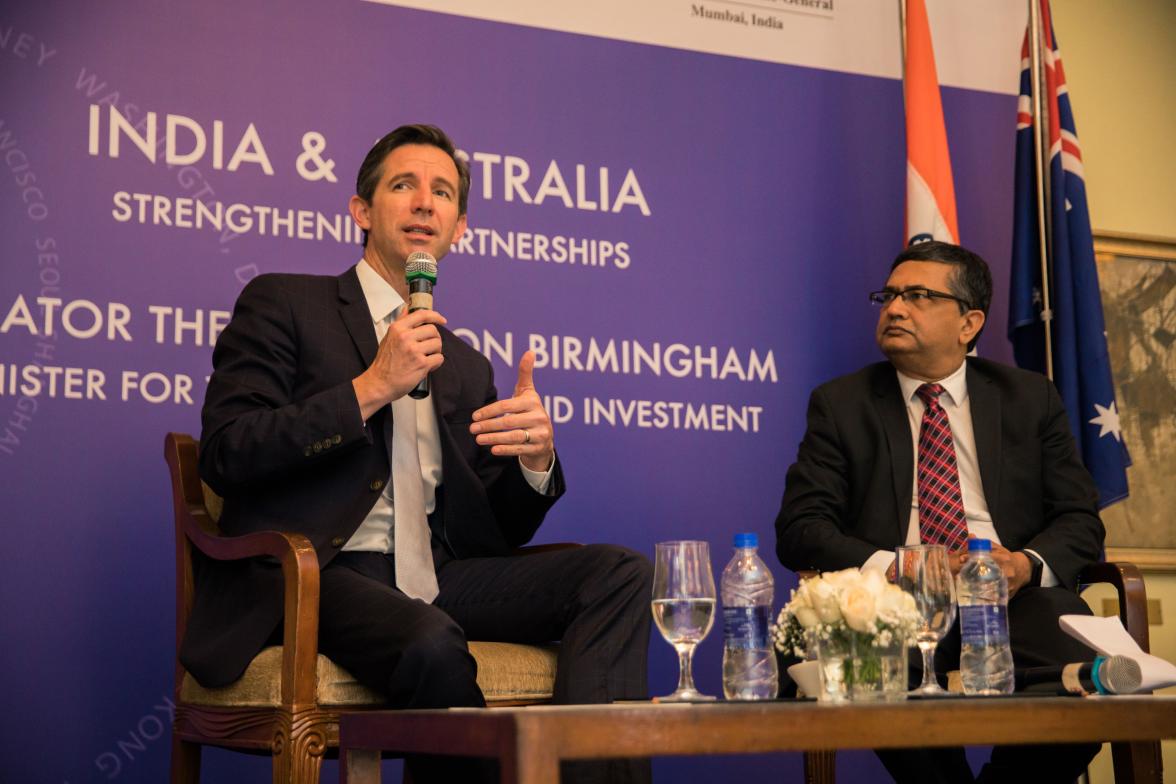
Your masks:
<svg viewBox="0 0 1176 784"><path fill-rule="evenodd" d="M723 569L723 696L774 699L780 690L768 624L775 581L755 534L735 535L735 557Z"/></svg>

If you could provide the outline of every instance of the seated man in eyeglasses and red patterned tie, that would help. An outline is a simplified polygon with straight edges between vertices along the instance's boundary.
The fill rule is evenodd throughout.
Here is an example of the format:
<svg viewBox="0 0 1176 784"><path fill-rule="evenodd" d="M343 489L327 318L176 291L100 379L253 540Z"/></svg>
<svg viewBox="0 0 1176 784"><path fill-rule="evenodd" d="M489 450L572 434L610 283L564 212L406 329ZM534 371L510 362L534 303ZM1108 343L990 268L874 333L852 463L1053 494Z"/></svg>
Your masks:
<svg viewBox="0 0 1176 784"><path fill-rule="evenodd" d="M1097 491L1054 384L968 356L991 290L988 264L960 246L923 242L898 254L869 295L888 361L814 390L776 552L794 570L893 574L896 547L938 543L958 571L969 536L991 540L1009 582L1015 665L1090 661L1057 617L1089 614L1075 588L1102 551ZM935 662L938 672L958 669L958 624ZM1073 782L1096 751L998 748L980 780ZM878 756L900 782L973 780L962 749Z"/></svg>

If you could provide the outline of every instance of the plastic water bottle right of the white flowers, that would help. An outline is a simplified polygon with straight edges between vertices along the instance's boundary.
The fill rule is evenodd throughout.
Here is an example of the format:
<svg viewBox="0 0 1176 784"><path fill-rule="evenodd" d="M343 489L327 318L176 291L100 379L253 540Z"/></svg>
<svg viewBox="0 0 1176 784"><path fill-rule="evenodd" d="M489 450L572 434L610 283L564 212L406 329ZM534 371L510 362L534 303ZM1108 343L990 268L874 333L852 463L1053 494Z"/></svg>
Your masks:
<svg viewBox="0 0 1176 784"><path fill-rule="evenodd" d="M1009 583L991 552L988 540L968 540L968 561L956 576L960 676L968 695L1013 693Z"/></svg>

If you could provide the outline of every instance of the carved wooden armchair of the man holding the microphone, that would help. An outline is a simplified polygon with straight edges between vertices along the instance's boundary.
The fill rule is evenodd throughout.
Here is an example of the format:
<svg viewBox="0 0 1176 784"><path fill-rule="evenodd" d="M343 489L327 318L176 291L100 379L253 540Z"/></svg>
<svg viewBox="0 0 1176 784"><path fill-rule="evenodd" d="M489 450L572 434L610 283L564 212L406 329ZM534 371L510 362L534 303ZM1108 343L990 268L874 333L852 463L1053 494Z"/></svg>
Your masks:
<svg viewBox="0 0 1176 784"><path fill-rule="evenodd" d="M318 651L319 559L300 534L263 531L221 536L221 500L196 468L196 443L171 433L163 444L175 507L175 644L183 639L193 599L193 548L211 558L273 556L286 581L282 644L262 650L245 675L205 689L175 663L172 782L198 784L203 745L273 757L274 784L316 784L325 756L339 748L339 717L386 709L383 697ZM539 551L576 545L541 545ZM548 702L556 645L470 642L477 685L490 706Z"/></svg>

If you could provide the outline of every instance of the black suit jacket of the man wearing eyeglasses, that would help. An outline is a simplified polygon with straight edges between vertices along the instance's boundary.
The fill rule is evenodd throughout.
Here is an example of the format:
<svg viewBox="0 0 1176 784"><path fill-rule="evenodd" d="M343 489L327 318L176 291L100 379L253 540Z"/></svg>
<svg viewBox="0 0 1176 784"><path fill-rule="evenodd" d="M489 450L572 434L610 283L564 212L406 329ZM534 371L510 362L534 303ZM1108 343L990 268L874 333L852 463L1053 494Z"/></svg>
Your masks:
<svg viewBox="0 0 1176 784"><path fill-rule="evenodd" d="M968 396L984 500L1001 543L1029 548L1074 588L1102 552L1097 490L1054 384L968 359ZM788 469L776 554L789 569L846 569L906 542L914 481L910 423L889 362L814 390Z"/></svg>

